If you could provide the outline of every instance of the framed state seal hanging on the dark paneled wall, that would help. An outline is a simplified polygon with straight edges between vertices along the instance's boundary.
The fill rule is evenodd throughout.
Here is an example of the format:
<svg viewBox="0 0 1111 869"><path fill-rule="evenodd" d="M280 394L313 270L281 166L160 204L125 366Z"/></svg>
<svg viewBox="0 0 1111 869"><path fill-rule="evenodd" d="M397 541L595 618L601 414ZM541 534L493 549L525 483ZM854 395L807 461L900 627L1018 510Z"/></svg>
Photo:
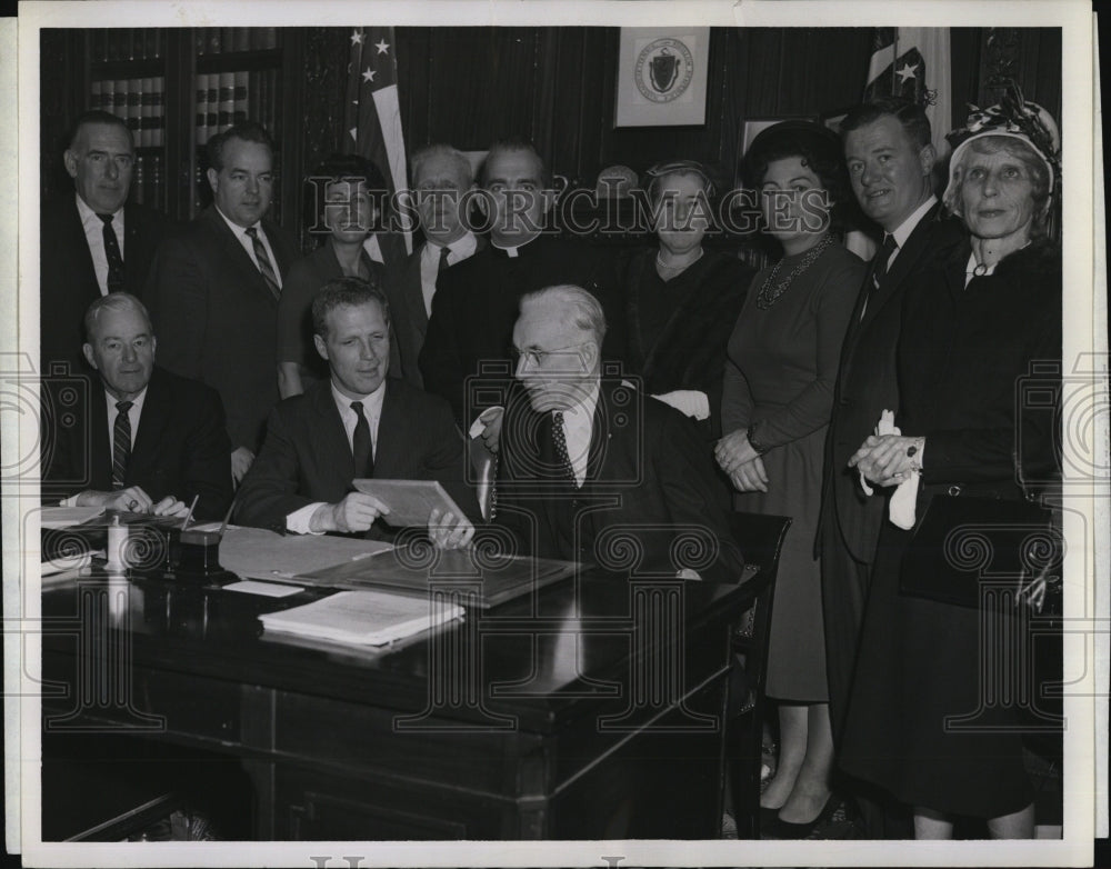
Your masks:
<svg viewBox="0 0 1111 869"><path fill-rule="evenodd" d="M710 28L621 28L614 127L705 123Z"/></svg>

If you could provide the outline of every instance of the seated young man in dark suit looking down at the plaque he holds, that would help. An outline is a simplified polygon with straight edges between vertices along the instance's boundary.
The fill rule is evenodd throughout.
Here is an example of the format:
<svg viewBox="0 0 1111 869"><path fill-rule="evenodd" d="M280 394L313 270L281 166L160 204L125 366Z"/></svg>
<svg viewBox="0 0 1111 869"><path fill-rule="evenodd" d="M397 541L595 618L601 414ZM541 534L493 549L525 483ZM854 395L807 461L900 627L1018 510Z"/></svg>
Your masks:
<svg viewBox="0 0 1111 869"><path fill-rule="evenodd" d="M242 525L292 533L389 537L389 506L351 491L354 479L438 480L464 512L477 515L463 482L463 441L443 399L388 378L390 308L359 278L326 283L312 301L313 343L331 377L281 401L270 413L236 512ZM467 546L466 516L429 517L438 546Z"/></svg>

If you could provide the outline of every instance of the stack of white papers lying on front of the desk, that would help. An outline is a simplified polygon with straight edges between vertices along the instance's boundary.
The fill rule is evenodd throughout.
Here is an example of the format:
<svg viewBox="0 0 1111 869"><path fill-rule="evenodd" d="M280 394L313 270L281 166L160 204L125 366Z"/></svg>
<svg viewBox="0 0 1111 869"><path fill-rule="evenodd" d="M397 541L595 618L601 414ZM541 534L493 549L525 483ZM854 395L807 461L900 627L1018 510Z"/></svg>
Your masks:
<svg viewBox="0 0 1111 869"><path fill-rule="evenodd" d="M267 631L384 646L462 618L462 607L441 600L386 591L340 591L303 607L264 613L259 621Z"/></svg>

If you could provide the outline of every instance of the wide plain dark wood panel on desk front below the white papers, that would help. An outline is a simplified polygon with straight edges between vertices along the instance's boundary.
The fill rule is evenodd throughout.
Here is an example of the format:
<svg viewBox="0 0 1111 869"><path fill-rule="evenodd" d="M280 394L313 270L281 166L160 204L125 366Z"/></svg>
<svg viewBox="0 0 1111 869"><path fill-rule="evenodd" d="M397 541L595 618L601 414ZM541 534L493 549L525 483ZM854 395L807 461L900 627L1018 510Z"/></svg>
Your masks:
<svg viewBox="0 0 1111 869"><path fill-rule="evenodd" d="M400 729L396 711L278 692L273 749L307 760L488 795L517 796L543 762L539 738L513 730L468 732L429 719ZM264 748L260 746L259 748Z"/></svg>

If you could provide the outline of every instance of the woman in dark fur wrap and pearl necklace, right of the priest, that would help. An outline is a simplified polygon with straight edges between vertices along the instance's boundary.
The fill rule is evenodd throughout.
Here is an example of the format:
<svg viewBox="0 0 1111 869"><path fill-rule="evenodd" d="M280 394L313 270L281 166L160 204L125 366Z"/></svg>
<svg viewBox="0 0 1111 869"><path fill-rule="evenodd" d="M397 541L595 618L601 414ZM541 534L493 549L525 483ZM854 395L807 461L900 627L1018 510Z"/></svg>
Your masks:
<svg viewBox="0 0 1111 869"><path fill-rule="evenodd" d="M702 249L713 184L699 163L659 163L648 178L660 244L635 251L623 267L627 372L715 439L725 340L752 269L732 254Z"/></svg>

